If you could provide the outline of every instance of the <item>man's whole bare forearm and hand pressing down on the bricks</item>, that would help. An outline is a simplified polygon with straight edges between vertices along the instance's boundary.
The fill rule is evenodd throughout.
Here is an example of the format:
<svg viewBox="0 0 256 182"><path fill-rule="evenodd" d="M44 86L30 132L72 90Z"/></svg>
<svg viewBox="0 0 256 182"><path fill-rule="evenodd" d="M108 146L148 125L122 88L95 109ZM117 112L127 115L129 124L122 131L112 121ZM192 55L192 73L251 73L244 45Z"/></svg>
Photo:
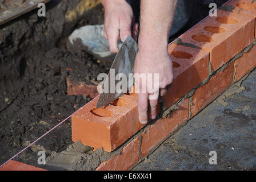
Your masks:
<svg viewBox="0 0 256 182"><path fill-rule="evenodd" d="M143 125L148 122L148 114L150 119L156 117L158 96L165 95L166 86L173 81L173 64L167 45L176 5L177 0L141 0L141 29L134 78L139 121ZM154 77L155 73L158 78ZM146 78L141 76L143 74Z"/></svg>

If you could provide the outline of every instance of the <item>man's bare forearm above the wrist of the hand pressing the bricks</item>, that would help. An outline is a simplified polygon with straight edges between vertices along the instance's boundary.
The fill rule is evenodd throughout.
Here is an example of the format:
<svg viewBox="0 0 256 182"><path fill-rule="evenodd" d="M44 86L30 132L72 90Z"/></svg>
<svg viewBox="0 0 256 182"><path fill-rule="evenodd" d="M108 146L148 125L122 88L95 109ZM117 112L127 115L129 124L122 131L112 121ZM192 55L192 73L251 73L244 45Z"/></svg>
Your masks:
<svg viewBox="0 0 256 182"><path fill-rule="evenodd" d="M177 1L141 0L140 49L167 49Z"/></svg>

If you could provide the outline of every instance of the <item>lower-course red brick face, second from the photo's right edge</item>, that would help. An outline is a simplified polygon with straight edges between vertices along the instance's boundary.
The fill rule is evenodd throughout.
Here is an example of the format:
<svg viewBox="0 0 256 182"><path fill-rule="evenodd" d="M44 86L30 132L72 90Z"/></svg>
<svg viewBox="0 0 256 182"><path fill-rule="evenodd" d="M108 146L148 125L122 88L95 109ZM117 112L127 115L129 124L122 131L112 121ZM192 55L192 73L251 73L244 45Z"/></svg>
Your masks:
<svg viewBox="0 0 256 182"><path fill-rule="evenodd" d="M194 116L198 111L206 107L210 102L225 91L233 82L234 62L230 63L226 69L217 73L209 82L199 87L193 97L191 114Z"/></svg>

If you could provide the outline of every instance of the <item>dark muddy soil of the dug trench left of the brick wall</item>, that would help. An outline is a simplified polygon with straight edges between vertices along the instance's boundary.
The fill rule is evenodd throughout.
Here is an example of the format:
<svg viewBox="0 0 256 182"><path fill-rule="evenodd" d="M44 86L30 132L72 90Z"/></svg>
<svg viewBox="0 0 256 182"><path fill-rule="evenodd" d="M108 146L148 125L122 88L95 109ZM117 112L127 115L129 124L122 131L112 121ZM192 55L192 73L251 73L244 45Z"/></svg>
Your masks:
<svg viewBox="0 0 256 182"><path fill-rule="evenodd" d="M215 2L219 7L226 1ZM195 18L173 39L207 15L207 5L198 5ZM52 0L46 18L35 9L0 26L0 164L91 100L67 96L66 77L91 84L109 71L111 62L81 50L67 51L66 39L75 28L102 23L99 1ZM68 119L15 160L42 167L38 151L50 156L72 143ZM91 148L83 152L93 154Z"/></svg>

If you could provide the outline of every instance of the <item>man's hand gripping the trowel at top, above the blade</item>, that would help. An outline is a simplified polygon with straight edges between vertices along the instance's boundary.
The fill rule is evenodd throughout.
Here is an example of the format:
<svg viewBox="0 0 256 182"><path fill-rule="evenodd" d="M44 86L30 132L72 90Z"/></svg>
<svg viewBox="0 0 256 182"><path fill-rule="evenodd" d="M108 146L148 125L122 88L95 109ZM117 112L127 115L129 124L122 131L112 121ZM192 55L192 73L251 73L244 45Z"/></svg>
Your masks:
<svg viewBox="0 0 256 182"><path fill-rule="evenodd" d="M119 36L122 42L128 35L136 40L138 24L134 24L133 9L125 0L101 0L101 2L105 9L104 36L109 40L110 52L117 53Z"/></svg>

